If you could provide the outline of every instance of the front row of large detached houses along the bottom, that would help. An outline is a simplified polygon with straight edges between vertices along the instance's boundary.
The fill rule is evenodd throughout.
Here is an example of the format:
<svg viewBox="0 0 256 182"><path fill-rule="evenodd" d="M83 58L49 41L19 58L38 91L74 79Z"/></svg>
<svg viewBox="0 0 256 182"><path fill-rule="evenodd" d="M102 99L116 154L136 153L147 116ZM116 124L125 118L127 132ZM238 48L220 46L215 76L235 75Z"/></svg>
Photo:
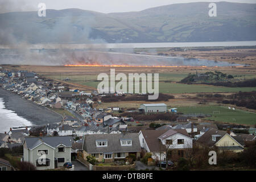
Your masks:
<svg viewBox="0 0 256 182"><path fill-rule="evenodd" d="M198 128L205 129L204 127ZM172 159L185 157L186 150L195 145L200 147L217 147L220 150L241 152L245 147L245 139L255 140L255 135L238 135L232 131L221 131L208 125L197 140L191 137L186 129L165 127L158 130L140 130L139 133L123 131L118 134L85 134L80 150L86 156L95 156L98 162L111 163L125 159L130 154L137 158L150 152L152 159L165 160L168 151L172 152ZM201 129L200 129L201 130ZM71 136L58 137L25 137L23 142L24 161L33 163L38 169L53 169L71 161L74 150ZM46 157L45 164L39 164L39 153Z"/></svg>

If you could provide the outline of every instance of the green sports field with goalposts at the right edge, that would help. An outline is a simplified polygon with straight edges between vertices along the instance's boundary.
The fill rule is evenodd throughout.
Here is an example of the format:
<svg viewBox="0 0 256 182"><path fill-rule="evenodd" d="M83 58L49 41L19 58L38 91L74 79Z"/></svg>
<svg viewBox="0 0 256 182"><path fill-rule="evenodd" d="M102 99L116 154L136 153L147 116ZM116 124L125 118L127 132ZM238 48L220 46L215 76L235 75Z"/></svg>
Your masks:
<svg viewBox="0 0 256 182"><path fill-rule="evenodd" d="M191 106L191 107L177 107L177 111L184 114L210 114L212 117L206 119L212 119L214 121L237 123L237 124L256 124L256 113L241 109L228 109L228 107L218 105L206 105L206 106Z"/></svg>

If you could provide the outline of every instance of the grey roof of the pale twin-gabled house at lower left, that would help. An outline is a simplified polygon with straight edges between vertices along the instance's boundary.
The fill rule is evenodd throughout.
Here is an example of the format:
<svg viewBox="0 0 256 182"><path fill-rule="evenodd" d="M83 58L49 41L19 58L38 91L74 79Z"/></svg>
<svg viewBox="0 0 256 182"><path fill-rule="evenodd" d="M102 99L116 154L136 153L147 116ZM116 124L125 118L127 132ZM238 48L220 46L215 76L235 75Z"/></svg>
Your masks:
<svg viewBox="0 0 256 182"><path fill-rule="evenodd" d="M55 148L59 144L64 144L67 147L72 147L73 138L71 136L64 137L25 137L25 142L27 144L27 148L32 150L41 143L46 143L49 146Z"/></svg>

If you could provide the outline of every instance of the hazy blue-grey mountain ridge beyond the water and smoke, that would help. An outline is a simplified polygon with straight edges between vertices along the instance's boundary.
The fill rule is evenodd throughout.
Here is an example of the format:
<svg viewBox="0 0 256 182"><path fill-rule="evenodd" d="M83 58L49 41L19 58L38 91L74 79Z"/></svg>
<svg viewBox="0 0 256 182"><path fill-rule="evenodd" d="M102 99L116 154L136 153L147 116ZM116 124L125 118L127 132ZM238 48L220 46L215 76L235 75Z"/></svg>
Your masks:
<svg viewBox="0 0 256 182"><path fill-rule="evenodd" d="M146 43L256 40L256 4L182 3L130 13L97 13L80 9L0 14L0 44Z"/></svg>

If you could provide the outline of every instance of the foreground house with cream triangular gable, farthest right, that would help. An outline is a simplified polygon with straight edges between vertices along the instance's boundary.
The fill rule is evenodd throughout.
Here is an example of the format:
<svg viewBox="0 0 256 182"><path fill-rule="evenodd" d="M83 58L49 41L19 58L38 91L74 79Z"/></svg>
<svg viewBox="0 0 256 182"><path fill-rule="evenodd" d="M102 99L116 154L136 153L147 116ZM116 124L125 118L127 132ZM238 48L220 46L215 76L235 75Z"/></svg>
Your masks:
<svg viewBox="0 0 256 182"><path fill-rule="evenodd" d="M196 142L200 147L217 147L220 150L241 152L245 146L241 136L232 137L230 131L209 129Z"/></svg>

